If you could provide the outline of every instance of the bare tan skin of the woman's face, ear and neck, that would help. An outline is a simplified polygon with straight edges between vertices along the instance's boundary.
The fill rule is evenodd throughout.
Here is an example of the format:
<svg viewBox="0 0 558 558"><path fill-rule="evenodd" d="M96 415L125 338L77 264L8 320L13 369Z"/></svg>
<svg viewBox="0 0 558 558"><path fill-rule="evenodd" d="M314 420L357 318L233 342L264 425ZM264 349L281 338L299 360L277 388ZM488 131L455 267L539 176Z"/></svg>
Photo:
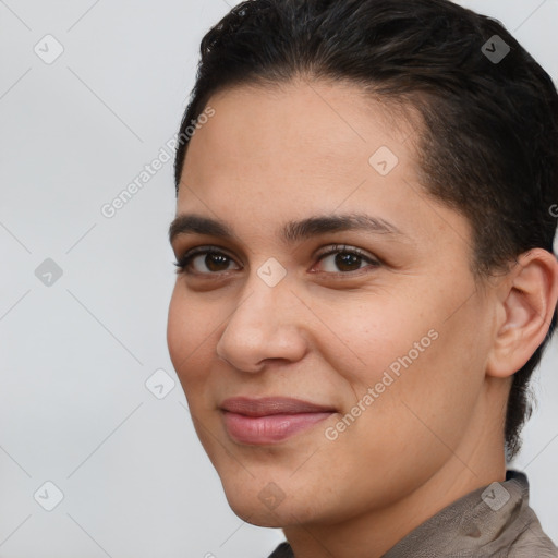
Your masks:
<svg viewBox="0 0 558 558"><path fill-rule="evenodd" d="M468 220L418 182L420 123L356 86L242 86L208 105L215 116L191 140L177 215L223 220L235 236L173 239L178 258L209 245L230 259L209 268L202 255L178 275L168 319L196 432L233 511L282 527L296 558L379 557L459 497L505 480L511 376L548 329L558 264L534 250L497 280L475 280ZM399 158L387 175L368 162L380 146ZM277 235L290 220L351 211L401 234ZM380 265L319 260L333 244ZM275 287L257 274L270 257L287 271ZM327 439L432 329L437 339ZM218 410L235 396L296 397L338 413L279 444L238 444ZM275 507L258 497L269 483Z"/></svg>

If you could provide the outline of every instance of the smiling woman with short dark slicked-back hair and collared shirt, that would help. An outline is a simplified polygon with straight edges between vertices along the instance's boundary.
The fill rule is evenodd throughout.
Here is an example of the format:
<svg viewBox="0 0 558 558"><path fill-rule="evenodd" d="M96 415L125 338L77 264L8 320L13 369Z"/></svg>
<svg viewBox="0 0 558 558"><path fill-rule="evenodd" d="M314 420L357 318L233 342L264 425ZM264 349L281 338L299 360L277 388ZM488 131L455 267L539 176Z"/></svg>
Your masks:
<svg viewBox="0 0 558 558"><path fill-rule="evenodd" d="M204 37L168 343L274 557L557 557L507 470L555 324L558 95L447 0L253 0Z"/></svg>

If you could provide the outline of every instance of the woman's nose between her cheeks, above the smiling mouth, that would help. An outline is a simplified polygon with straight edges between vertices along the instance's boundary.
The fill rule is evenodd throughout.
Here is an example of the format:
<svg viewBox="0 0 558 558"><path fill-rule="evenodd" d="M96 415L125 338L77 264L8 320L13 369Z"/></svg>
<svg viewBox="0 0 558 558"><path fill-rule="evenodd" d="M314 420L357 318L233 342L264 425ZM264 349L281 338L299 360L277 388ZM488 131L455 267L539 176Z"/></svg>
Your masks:
<svg viewBox="0 0 558 558"><path fill-rule="evenodd" d="M307 350L304 308L288 281L269 287L255 275L217 343L217 355L244 372L259 372L269 360L299 361Z"/></svg>

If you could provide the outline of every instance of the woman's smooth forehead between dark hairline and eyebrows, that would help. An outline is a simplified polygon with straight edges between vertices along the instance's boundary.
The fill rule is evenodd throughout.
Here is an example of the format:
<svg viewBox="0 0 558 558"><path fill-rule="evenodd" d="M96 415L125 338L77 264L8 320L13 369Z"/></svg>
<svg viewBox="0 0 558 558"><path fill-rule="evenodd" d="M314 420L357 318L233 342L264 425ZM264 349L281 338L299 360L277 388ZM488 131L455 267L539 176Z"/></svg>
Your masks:
<svg viewBox="0 0 558 558"><path fill-rule="evenodd" d="M236 87L207 106L215 114L190 141L179 215L226 221L250 242L276 238L293 220L349 213L414 238L434 239L448 226L469 234L468 223L453 222L459 214L425 203L415 123L356 86Z"/></svg>

